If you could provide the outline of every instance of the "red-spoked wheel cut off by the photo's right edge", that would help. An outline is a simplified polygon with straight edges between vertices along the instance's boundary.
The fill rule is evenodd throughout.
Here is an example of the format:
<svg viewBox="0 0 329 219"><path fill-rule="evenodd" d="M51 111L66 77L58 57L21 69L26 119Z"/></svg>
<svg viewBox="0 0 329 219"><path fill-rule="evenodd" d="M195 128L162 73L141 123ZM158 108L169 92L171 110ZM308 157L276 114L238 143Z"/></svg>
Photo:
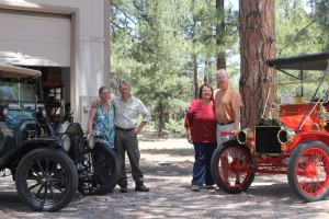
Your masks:
<svg viewBox="0 0 329 219"><path fill-rule="evenodd" d="M287 178L296 196L317 201L329 195L329 147L320 141L297 146L290 159Z"/></svg>

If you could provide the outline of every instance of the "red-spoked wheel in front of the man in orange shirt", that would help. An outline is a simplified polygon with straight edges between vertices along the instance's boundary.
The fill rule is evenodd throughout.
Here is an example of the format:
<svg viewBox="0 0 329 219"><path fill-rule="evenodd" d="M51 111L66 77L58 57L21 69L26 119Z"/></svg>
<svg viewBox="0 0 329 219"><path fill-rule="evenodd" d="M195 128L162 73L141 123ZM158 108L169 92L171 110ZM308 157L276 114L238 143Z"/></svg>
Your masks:
<svg viewBox="0 0 329 219"><path fill-rule="evenodd" d="M226 193L245 192L254 178L253 159L246 146L236 140L217 147L212 157L212 176L218 187Z"/></svg>

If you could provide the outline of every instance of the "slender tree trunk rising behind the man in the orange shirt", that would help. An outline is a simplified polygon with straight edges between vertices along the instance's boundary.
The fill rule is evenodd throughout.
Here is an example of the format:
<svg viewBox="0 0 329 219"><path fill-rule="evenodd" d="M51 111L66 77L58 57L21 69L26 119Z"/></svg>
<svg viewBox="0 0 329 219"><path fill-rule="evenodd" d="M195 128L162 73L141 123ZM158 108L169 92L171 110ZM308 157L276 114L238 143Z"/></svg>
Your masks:
<svg viewBox="0 0 329 219"><path fill-rule="evenodd" d="M225 69L226 56L225 56L224 0L216 0L216 15L217 15L217 24L216 24L217 69Z"/></svg>

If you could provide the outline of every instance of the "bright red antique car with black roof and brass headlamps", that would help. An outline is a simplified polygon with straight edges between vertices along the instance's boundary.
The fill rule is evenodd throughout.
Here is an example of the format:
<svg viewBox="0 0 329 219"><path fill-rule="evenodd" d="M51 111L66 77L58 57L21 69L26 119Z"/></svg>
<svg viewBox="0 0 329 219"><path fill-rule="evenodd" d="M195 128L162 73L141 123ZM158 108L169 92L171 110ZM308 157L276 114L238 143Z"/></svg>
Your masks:
<svg viewBox="0 0 329 219"><path fill-rule="evenodd" d="M266 61L283 78L293 77L285 91L296 91L298 82L298 93L282 93L281 103L264 107L253 129L241 130L236 140L215 150L212 175L217 186L226 193L241 193L256 173L287 174L291 188L303 200L329 195L328 60L329 51ZM277 83L273 88L279 93Z"/></svg>

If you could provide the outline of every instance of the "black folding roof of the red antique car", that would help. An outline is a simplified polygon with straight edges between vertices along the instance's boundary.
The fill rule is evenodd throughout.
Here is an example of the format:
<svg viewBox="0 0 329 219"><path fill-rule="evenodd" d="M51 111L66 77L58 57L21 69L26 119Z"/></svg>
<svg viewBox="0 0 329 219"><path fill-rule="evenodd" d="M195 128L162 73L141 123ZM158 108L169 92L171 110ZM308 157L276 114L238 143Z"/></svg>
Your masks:
<svg viewBox="0 0 329 219"><path fill-rule="evenodd" d="M329 50L317 54L305 54L266 60L269 67L292 70L326 70L329 61Z"/></svg>

